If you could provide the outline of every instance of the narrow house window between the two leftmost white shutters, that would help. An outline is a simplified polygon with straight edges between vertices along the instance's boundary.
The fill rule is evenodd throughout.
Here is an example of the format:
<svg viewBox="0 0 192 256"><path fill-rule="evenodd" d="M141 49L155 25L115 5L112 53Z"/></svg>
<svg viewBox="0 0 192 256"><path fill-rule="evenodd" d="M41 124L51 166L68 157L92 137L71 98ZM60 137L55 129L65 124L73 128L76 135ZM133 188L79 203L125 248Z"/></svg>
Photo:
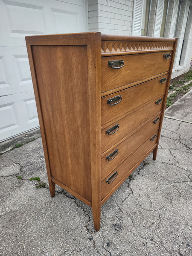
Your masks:
<svg viewBox="0 0 192 256"><path fill-rule="evenodd" d="M148 25L151 10L151 0L143 1L143 15L141 20L141 35L148 35Z"/></svg>

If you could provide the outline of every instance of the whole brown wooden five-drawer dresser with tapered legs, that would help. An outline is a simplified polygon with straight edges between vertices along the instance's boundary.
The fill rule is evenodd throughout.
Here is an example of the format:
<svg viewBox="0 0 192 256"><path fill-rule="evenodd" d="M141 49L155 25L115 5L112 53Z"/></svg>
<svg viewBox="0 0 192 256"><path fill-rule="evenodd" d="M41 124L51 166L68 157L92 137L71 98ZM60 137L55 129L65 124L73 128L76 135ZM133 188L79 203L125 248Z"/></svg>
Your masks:
<svg viewBox="0 0 192 256"><path fill-rule="evenodd" d="M26 37L51 196L101 206L153 151L176 38L100 32Z"/></svg>

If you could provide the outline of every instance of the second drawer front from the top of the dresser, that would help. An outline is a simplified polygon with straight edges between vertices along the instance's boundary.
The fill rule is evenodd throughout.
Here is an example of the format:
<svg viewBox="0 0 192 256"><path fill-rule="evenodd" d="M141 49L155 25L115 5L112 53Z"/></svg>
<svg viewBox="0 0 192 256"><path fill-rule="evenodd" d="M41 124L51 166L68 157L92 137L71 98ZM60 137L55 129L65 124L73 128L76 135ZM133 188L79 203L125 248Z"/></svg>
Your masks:
<svg viewBox="0 0 192 256"><path fill-rule="evenodd" d="M118 120L134 108L142 107L151 99L163 95L166 90L166 83L162 84L160 82L160 79L163 78L167 79L168 75L160 76L157 79L152 79L145 83L137 84L128 89L102 97L102 126ZM115 98L119 95L121 95L121 99L118 97ZM115 98L115 101L113 100L111 104L119 103L116 105L108 104L112 98ZM162 105L162 103L160 103L160 105Z"/></svg>

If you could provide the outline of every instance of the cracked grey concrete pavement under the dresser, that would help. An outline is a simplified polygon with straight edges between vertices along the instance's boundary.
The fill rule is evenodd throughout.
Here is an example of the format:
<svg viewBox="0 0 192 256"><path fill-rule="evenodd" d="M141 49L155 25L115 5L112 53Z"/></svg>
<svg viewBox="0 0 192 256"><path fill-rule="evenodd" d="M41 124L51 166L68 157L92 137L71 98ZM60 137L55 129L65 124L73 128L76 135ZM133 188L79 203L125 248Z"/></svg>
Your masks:
<svg viewBox="0 0 192 256"><path fill-rule="evenodd" d="M86 204L57 185L50 197L41 138L2 154L0 256L191 256L191 154L192 124L165 117L157 160L106 201L98 232Z"/></svg>

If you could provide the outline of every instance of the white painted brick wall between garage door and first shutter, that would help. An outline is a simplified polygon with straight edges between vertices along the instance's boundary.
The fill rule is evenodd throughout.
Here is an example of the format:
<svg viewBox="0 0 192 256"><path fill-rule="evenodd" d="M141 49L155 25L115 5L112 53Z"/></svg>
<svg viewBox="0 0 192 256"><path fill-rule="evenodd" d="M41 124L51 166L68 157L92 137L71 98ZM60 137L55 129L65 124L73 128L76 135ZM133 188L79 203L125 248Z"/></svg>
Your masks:
<svg viewBox="0 0 192 256"><path fill-rule="evenodd" d="M89 31L131 35L134 0L88 0Z"/></svg>

